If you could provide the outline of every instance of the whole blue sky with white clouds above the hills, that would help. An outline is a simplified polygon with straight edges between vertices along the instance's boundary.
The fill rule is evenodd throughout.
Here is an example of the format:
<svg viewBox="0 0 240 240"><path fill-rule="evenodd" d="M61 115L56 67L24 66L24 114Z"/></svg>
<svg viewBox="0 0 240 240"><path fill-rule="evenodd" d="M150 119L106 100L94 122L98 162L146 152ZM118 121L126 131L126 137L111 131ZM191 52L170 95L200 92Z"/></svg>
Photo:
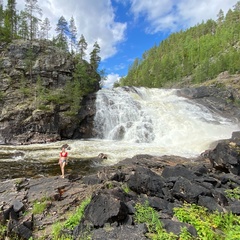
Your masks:
<svg viewBox="0 0 240 240"><path fill-rule="evenodd" d="M7 0L3 0L6 4ZM23 9L25 0L16 0ZM169 34L185 30L203 20L216 20L237 0L39 0L42 19L51 21L51 37L61 16L69 22L73 16L78 37L84 35L89 51L94 42L101 48L101 69L105 70L105 87L125 76L135 58Z"/></svg>

